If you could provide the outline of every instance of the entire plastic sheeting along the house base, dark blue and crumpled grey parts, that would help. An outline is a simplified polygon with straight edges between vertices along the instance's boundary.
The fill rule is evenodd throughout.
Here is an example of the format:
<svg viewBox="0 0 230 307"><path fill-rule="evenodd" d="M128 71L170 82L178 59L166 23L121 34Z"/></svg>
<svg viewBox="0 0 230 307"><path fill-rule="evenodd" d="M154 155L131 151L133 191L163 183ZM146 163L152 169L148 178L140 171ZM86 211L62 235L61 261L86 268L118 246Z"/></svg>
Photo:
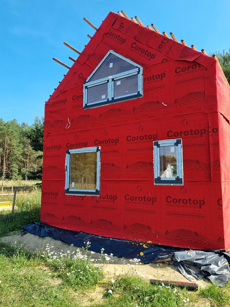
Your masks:
<svg viewBox="0 0 230 307"><path fill-rule="evenodd" d="M176 265L181 274L190 282L192 281L191 275L196 279L208 278L211 282L217 282L218 286L224 286L230 280L230 254L221 250L186 251L186 249L179 247L106 238L81 231L70 231L42 222L35 222L21 228L23 230L22 235L29 232L39 237L52 237L77 247L82 247L84 242L90 241L89 250L101 253L101 249L104 248L106 254L112 253L113 256L120 258L139 258L144 263L167 259L170 264Z"/></svg>

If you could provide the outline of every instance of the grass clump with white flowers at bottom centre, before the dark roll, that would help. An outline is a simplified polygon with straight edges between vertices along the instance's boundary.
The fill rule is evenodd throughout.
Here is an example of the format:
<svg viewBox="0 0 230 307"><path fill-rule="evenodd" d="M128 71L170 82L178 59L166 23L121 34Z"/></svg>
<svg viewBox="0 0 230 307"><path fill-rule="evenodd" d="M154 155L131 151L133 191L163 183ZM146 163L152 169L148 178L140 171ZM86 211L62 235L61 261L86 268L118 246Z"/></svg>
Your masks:
<svg viewBox="0 0 230 307"><path fill-rule="evenodd" d="M165 286L163 282L151 285L138 274L128 273L114 277L108 282L106 290L112 290L112 295L106 295L102 303L94 307L180 307L190 306L190 294L174 286ZM109 297L106 297L109 296Z"/></svg>

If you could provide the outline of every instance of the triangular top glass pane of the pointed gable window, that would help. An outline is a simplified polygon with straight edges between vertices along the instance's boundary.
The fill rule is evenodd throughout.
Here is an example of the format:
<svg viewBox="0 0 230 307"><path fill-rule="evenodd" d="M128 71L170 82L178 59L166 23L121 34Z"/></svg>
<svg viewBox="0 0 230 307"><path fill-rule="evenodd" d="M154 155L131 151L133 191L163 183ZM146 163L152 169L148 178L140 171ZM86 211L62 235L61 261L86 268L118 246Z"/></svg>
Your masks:
<svg viewBox="0 0 230 307"><path fill-rule="evenodd" d="M88 82L103 79L108 76L114 76L135 68L137 67L111 53Z"/></svg>

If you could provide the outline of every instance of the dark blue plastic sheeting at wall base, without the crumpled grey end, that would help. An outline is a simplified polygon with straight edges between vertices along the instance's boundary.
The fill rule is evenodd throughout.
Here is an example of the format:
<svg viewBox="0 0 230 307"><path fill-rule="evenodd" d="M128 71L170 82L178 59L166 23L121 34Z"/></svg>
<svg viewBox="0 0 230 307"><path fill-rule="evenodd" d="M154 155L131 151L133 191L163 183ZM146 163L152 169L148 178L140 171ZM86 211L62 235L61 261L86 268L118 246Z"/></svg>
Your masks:
<svg viewBox="0 0 230 307"><path fill-rule="evenodd" d="M73 244L78 247L85 246L84 242L90 241L90 251L101 253L104 248L104 253L113 254L117 257L138 258L141 262L151 263L158 260L172 258L175 251L185 251L184 248L169 247L150 243L133 242L121 239L112 239L97 235L90 235L81 231L70 231L57 227L52 227L44 223L33 223L22 226L23 235L31 233L39 237L52 237L56 240L63 241L67 244ZM143 247L146 246L146 247ZM140 256L140 253L143 253Z"/></svg>

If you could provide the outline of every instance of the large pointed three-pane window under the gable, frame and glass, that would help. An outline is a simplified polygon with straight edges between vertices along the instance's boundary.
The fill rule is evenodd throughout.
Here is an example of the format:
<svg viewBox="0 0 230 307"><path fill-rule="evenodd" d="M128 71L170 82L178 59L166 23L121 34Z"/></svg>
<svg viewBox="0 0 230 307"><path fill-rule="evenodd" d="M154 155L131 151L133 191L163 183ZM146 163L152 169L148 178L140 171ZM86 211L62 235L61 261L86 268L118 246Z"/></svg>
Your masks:
<svg viewBox="0 0 230 307"><path fill-rule="evenodd" d="M142 67L110 50L83 88L83 109L143 96Z"/></svg>

